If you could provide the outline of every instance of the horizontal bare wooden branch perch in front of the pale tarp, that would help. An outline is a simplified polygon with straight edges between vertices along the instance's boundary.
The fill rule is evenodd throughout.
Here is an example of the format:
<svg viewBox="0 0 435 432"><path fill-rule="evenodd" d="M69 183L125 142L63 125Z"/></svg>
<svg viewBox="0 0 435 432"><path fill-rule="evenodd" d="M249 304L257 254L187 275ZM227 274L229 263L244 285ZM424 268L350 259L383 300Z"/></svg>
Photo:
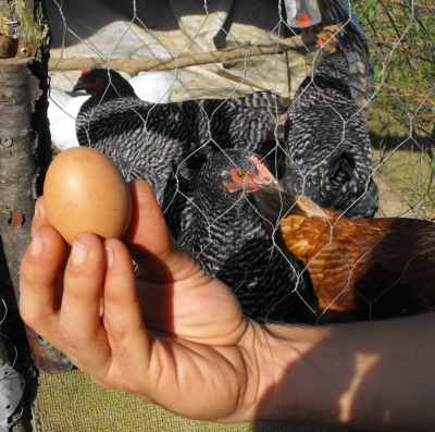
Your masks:
<svg viewBox="0 0 435 432"><path fill-rule="evenodd" d="M103 59L99 57L55 59L49 61L49 70L74 71L83 67L110 67L137 75L146 71L169 71L181 67L195 66L208 63L225 63L231 60L283 53L314 44L316 36L312 32L304 32L300 36L293 36L269 45L243 45L237 48L225 48L210 52L182 54L166 59Z"/></svg>

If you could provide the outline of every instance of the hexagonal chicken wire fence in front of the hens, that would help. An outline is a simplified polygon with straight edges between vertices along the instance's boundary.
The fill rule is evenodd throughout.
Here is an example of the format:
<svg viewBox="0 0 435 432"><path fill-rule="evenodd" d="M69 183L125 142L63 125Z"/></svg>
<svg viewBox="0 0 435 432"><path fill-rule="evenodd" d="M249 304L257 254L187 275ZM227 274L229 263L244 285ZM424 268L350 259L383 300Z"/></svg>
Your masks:
<svg viewBox="0 0 435 432"><path fill-rule="evenodd" d="M362 308L366 319L415 312L419 308L407 308L403 301L380 301L396 280L381 277L384 287L369 293L355 279L382 237L353 258L333 240L333 229L338 233L338 222L346 219L332 215L322 227L327 240L301 258L301 244L315 242L313 232L306 232L300 244L287 245L291 254L274 237L283 235L279 222L285 224L289 214L283 206L288 197L279 194L277 202L268 197L269 206L281 211L271 217L249 197L247 177L237 199L221 205L213 193L222 187L223 171L235 184L232 169L241 166L244 174L253 169L239 159L246 150L257 155L291 196L307 196L339 214L434 219L433 3L319 5L322 22L301 29L289 26L281 1L95 2L90 18L79 7L48 1L53 147L97 148L127 180L150 182L174 237L227 282L256 319L319 322L333 311L328 320L347 320L346 308ZM91 87L103 78L86 77L90 66L100 67L110 84ZM94 96L87 101L89 95L71 92L73 86ZM315 212L325 218L322 210ZM254 213L261 213L269 231L259 227ZM358 230L370 233L365 225ZM412 229L406 233L414 235ZM411 243L410 248L418 247ZM346 282L320 299L315 288L312 300L303 293L320 276L315 269L309 272L310 266L323 263L323 252L331 255L331 248L341 262L330 258L327 266L346 268ZM408 255L401 263L405 280L415 257L431 254L415 249ZM321 273L327 280L327 271ZM423 304L419 310L431 310L427 286L415 281L409 285ZM356 306L356 296L364 306ZM403 295L414 303L411 297ZM376 309L377 304L382 306ZM380 308L391 311L384 314ZM295 309L308 313L296 319Z"/></svg>

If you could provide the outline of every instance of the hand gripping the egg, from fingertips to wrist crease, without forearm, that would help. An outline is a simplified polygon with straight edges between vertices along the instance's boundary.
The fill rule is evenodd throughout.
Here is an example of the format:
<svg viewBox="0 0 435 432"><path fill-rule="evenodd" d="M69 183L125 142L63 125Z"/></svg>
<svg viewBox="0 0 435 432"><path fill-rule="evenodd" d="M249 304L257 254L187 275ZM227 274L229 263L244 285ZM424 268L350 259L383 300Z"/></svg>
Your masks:
<svg viewBox="0 0 435 432"><path fill-rule="evenodd" d="M135 181L130 190L125 244L82 233L69 256L38 199L21 268L23 320L105 387L196 419L254 418L262 328L175 244L150 186Z"/></svg>

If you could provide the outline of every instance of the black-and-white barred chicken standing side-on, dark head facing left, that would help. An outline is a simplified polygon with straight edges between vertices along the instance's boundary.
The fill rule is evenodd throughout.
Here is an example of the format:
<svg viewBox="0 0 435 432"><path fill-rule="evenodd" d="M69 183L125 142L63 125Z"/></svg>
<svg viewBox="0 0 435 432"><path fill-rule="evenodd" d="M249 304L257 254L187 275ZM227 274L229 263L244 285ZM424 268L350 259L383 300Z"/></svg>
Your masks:
<svg viewBox="0 0 435 432"><path fill-rule="evenodd" d="M237 99L154 104L140 100L115 71L84 71L77 88L94 95L76 121L78 143L105 153L127 181L147 180L161 202L172 163L196 169L221 148L258 150L274 136L281 99L271 92Z"/></svg>

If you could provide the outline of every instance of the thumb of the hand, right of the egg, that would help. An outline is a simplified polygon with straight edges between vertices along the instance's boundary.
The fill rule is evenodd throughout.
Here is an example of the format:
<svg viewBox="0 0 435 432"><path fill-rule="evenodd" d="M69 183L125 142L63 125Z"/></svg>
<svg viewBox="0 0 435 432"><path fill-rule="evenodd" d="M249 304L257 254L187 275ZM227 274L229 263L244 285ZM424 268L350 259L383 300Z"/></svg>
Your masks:
<svg viewBox="0 0 435 432"><path fill-rule="evenodd" d="M133 214L125 240L139 269L166 280L169 274L177 280L197 272L198 264L171 236L151 186L135 180L129 188Z"/></svg>

